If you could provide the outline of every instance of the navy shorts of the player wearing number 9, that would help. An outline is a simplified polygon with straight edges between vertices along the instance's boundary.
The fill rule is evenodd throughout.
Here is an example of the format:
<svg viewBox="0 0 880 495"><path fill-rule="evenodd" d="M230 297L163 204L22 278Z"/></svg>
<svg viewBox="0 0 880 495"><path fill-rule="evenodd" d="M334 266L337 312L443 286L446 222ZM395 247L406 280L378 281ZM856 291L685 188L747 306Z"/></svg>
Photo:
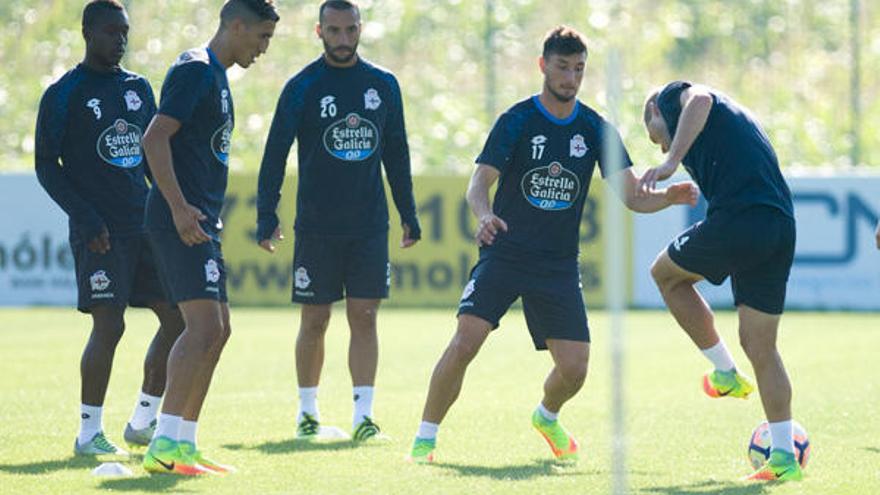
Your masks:
<svg viewBox="0 0 880 495"><path fill-rule="evenodd" d="M76 285L79 293L77 309L90 313L100 304L146 308L165 302L145 234L110 237L110 251L94 253L85 242L71 244Z"/></svg>

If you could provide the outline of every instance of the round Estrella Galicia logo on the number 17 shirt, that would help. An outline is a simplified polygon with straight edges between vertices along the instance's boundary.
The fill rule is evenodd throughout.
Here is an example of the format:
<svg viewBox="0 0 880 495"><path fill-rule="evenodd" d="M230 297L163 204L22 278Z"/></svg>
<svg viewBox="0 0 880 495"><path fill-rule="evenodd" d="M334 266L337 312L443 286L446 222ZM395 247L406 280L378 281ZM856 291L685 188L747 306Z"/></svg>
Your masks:
<svg viewBox="0 0 880 495"><path fill-rule="evenodd" d="M559 211L571 207L581 191L580 180L559 162L533 168L522 179L526 200L535 208Z"/></svg>

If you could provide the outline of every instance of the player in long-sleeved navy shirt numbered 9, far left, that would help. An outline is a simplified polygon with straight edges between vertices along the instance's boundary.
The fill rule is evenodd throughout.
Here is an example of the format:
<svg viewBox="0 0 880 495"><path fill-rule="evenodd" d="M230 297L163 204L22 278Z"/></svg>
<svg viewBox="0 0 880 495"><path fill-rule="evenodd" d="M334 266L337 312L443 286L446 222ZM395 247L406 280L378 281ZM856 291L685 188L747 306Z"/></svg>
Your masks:
<svg viewBox="0 0 880 495"><path fill-rule="evenodd" d="M78 455L126 454L107 439L102 424L126 306L149 307L159 319L140 397L123 434L130 445L146 445L152 437L168 351L183 330L180 313L162 290L143 228L148 187L141 134L156 103L150 83L120 66L128 30L128 14L118 1L86 4L85 58L46 90L37 117L37 177L69 218L77 307L92 317L80 362Z"/></svg>

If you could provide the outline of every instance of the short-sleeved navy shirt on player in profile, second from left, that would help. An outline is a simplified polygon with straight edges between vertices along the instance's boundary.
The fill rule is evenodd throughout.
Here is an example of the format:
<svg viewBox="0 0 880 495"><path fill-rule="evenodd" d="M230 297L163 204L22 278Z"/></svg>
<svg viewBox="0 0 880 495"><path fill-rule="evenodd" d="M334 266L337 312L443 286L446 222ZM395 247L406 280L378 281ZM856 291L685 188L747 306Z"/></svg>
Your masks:
<svg viewBox="0 0 880 495"><path fill-rule="evenodd" d="M159 114L181 123L171 137L174 173L186 201L208 217L202 228L219 240L235 111L226 68L210 49L186 51L171 66L162 85ZM177 230L158 188L147 201L147 226Z"/></svg>

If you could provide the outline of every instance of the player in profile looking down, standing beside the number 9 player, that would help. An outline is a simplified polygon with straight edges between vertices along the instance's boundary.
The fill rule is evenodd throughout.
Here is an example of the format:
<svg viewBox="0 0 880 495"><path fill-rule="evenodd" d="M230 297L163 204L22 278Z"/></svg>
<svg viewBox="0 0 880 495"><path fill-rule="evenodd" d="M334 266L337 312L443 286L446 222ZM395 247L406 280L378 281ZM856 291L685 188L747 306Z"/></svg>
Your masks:
<svg viewBox="0 0 880 495"><path fill-rule="evenodd" d="M269 47L279 16L272 0L228 0L205 47L180 55L162 85L144 136L156 180L146 224L163 283L186 328L168 358L168 393L144 455L153 473L227 472L196 447L199 413L231 333L220 210L235 112L226 70L248 68Z"/></svg>

